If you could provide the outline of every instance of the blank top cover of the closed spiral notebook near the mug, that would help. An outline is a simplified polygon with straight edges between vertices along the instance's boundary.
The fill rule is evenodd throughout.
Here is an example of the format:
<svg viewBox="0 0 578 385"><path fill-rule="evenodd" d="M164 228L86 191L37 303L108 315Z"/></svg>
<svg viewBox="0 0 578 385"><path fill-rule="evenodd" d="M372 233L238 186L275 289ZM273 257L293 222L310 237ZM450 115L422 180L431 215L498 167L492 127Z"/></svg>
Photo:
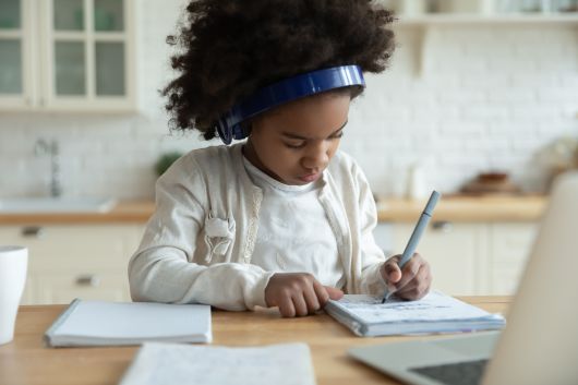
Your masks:
<svg viewBox="0 0 578 385"><path fill-rule="evenodd" d="M80 301L56 335L159 338L210 330L210 306L148 302Z"/></svg>

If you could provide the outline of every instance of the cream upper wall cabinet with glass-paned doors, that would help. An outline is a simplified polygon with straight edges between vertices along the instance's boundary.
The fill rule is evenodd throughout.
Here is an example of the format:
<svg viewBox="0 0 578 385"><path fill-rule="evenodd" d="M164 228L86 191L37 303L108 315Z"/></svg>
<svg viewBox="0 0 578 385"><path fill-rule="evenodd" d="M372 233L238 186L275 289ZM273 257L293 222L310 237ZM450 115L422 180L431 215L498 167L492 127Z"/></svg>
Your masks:
<svg viewBox="0 0 578 385"><path fill-rule="evenodd" d="M0 2L0 109L135 109L133 0Z"/></svg>

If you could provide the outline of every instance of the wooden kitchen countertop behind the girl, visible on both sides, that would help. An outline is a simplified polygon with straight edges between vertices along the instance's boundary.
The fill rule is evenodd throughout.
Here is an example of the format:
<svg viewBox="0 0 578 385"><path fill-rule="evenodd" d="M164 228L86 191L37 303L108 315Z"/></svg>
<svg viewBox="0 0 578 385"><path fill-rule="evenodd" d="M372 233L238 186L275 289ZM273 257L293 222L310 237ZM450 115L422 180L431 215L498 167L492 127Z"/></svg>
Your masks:
<svg viewBox="0 0 578 385"><path fill-rule="evenodd" d="M545 195L516 196L446 196L435 208L433 220L448 221L537 221L545 208ZM381 198L380 221L417 220L425 200ZM153 201L120 202L108 213L27 213L1 214L0 225L33 224L144 224L155 209Z"/></svg>

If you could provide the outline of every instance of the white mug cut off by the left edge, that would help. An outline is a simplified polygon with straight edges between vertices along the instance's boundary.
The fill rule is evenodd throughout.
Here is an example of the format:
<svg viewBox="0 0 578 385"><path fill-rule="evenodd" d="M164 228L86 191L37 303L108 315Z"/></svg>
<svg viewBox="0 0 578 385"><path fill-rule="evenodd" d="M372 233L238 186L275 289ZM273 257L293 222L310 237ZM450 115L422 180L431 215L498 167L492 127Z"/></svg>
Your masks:
<svg viewBox="0 0 578 385"><path fill-rule="evenodd" d="M0 345L14 338L14 323L26 282L28 249L0 245Z"/></svg>

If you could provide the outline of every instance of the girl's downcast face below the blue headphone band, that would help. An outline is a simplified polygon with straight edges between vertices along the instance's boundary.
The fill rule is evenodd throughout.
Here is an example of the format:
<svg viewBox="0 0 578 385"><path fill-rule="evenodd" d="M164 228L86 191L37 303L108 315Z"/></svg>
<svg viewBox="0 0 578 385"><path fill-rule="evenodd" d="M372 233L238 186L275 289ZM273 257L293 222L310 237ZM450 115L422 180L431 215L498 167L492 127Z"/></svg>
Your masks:
<svg viewBox="0 0 578 385"><path fill-rule="evenodd" d="M349 104L348 93L321 94L255 119L245 156L285 184L315 181L339 147Z"/></svg>

